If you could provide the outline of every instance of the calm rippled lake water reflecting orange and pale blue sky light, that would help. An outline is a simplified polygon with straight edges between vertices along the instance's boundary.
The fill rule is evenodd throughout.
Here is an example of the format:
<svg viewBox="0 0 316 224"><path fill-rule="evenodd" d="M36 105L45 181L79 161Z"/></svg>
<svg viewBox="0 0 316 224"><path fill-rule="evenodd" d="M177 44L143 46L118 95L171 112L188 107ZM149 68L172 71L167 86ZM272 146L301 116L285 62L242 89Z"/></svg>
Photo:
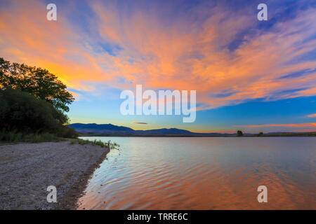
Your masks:
<svg viewBox="0 0 316 224"><path fill-rule="evenodd" d="M316 138L115 141L79 209L316 209ZM257 188L268 188L258 203Z"/></svg>

